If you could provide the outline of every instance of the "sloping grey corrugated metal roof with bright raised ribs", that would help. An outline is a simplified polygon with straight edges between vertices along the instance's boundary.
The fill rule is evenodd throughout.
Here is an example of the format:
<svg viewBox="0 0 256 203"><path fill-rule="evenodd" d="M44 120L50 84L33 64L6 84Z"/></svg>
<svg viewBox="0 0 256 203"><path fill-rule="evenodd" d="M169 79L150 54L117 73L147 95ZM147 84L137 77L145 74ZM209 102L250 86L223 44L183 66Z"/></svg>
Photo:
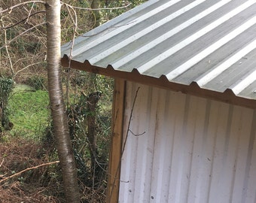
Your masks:
<svg viewBox="0 0 256 203"><path fill-rule="evenodd" d="M72 61L255 100L255 11L256 0L152 0L78 37Z"/></svg>

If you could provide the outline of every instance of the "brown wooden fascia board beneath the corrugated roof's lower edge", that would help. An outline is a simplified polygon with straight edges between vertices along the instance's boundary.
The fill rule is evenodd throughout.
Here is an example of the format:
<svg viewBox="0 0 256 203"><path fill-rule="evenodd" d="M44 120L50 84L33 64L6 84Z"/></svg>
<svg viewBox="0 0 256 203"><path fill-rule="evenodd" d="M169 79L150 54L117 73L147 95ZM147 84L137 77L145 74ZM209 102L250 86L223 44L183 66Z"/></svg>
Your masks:
<svg viewBox="0 0 256 203"><path fill-rule="evenodd" d="M69 67L69 57L64 56L61 63L65 67ZM190 83L190 85L184 85L181 83L170 82L164 75L160 78L150 77L139 74L139 71L118 71L114 70L111 65L107 68L101 68L95 65L91 65L90 62L84 63L73 61L70 63L71 68L75 68L81 71L88 71L95 74L103 74L108 77L122 78L124 80L130 80L136 83L142 83L150 86L157 86L164 89L170 89L175 92L182 92L184 94L196 95L203 98L211 98L216 101L228 103L231 105L238 105L246 108L256 109L256 100L250 98L242 98L233 93L233 91L216 92L210 89L201 88L196 82Z"/></svg>

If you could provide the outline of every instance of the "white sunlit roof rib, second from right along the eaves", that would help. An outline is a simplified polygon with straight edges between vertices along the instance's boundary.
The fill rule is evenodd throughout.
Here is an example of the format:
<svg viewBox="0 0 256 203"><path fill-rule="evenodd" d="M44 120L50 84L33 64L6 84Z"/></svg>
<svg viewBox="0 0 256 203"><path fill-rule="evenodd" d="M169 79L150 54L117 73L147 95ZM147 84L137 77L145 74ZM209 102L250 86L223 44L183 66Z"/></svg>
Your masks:
<svg viewBox="0 0 256 203"><path fill-rule="evenodd" d="M223 71L227 70L227 68L230 68L231 65L238 62L239 59L241 59L246 54L250 53L255 48L256 48L256 39L254 41L252 41L250 44L248 44L246 47L243 47L242 50L239 50L237 53L233 54L233 56L230 56L224 62L221 62L220 65L217 65L216 67L212 68L212 70L209 71L207 74L205 74L203 77L196 80L197 84L199 86L205 85L210 80L212 80L213 78L215 78L219 74L221 74ZM254 74L252 74L249 77L254 77L254 80L256 80L256 75L254 75ZM248 83L248 84L250 84L250 83ZM241 89L241 91L242 91L242 89ZM239 92L241 92L241 91L239 91ZM237 94L239 92L237 92Z"/></svg>

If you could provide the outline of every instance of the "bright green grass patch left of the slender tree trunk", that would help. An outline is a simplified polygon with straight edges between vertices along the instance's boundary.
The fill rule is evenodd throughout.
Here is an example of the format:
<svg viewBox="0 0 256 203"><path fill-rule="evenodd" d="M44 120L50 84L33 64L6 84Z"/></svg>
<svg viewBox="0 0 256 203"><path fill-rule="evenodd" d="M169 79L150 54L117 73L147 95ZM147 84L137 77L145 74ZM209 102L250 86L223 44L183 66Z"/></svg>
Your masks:
<svg viewBox="0 0 256 203"><path fill-rule="evenodd" d="M14 123L12 135L40 138L49 123L48 92L17 85L8 103L9 119Z"/></svg>

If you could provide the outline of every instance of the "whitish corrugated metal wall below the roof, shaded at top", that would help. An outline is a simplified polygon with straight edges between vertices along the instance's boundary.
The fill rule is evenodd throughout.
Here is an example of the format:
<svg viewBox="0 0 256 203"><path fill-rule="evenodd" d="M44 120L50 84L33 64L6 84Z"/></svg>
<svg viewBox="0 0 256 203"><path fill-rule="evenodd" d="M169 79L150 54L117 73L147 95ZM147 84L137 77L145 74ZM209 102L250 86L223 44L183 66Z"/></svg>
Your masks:
<svg viewBox="0 0 256 203"><path fill-rule="evenodd" d="M127 83L119 202L255 203L256 111Z"/></svg>

